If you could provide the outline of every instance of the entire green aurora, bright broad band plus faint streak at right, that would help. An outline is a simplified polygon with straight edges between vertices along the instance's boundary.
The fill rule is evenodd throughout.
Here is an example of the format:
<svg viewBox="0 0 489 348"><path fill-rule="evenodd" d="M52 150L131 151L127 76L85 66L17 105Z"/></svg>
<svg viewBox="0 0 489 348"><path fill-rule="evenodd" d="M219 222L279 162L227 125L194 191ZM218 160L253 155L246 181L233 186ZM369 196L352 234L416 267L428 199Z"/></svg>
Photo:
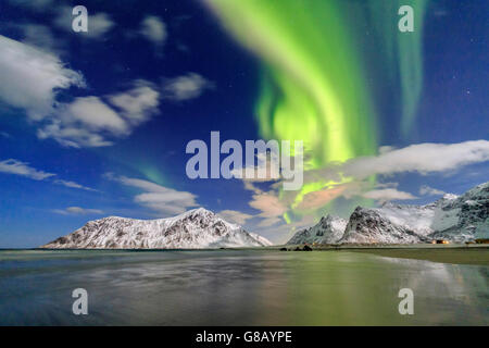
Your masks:
<svg viewBox="0 0 489 348"><path fill-rule="evenodd" d="M399 85L401 133L413 124L422 80L422 24L425 0L365 1L355 9L348 1L226 1L208 0L226 30L262 61L256 101L261 135L267 139L302 139L310 156L305 170L331 162L374 154L378 147L375 101L368 90L361 33L349 14L371 21L378 30L375 44L385 55L392 83ZM399 32L397 9L414 9L415 32ZM355 5L355 4L353 4ZM347 11L347 10L350 10ZM394 78L396 76L396 78ZM292 210L305 195L349 182L308 183ZM287 215L286 215L287 219Z"/></svg>

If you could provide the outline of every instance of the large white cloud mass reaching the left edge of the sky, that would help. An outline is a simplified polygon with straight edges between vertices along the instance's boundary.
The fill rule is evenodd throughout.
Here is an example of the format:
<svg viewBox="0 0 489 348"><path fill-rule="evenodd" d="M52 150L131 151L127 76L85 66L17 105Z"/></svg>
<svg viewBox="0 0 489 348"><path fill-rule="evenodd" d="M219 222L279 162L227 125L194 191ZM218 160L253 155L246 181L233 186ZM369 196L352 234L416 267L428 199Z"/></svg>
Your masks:
<svg viewBox="0 0 489 348"><path fill-rule="evenodd" d="M3 36L0 50L0 100L26 110L40 139L74 148L111 146L158 114L160 91L147 80L137 79L121 92L60 103L61 89L85 87L80 73L66 69L54 53Z"/></svg>

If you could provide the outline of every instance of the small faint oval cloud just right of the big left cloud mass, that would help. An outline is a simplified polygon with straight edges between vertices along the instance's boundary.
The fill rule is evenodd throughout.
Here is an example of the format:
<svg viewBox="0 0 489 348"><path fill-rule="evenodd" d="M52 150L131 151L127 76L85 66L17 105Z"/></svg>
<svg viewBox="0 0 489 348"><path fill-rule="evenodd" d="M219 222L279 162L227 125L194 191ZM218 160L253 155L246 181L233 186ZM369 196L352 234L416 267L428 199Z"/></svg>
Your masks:
<svg viewBox="0 0 489 348"><path fill-rule="evenodd" d="M199 74L187 75L166 79L163 86L165 98L176 101L198 98L206 89L213 88L214 84Z"/></svg>

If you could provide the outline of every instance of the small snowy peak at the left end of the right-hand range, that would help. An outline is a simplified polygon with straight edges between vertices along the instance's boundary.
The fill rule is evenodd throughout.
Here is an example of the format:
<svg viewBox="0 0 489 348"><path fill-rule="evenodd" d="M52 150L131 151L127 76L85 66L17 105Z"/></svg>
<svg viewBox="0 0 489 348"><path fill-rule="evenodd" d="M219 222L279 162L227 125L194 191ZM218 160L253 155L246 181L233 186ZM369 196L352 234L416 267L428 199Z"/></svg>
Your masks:
<svg viewBox="0 0 489 348"><path fill-rule="evenodd" d="M335 244L343 236L347 223L344 219L328 214L316 225L297 232L287 244Z"/></svg>

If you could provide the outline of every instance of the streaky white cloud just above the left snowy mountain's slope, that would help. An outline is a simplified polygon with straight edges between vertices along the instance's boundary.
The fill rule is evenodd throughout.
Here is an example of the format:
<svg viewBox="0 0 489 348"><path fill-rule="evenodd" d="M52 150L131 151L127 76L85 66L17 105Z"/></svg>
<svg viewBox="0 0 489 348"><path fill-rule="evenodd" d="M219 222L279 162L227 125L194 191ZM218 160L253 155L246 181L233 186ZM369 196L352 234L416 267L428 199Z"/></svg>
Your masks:
<svg viewBox="0 0 489 348"><path fill-rule="evenodd" d="M198 206L196 196L190 192L177 191L139 178L115 176L112 173L105 174L104 177L143 190L135 196L134 201L165 215L179 214Z"/></svg>

